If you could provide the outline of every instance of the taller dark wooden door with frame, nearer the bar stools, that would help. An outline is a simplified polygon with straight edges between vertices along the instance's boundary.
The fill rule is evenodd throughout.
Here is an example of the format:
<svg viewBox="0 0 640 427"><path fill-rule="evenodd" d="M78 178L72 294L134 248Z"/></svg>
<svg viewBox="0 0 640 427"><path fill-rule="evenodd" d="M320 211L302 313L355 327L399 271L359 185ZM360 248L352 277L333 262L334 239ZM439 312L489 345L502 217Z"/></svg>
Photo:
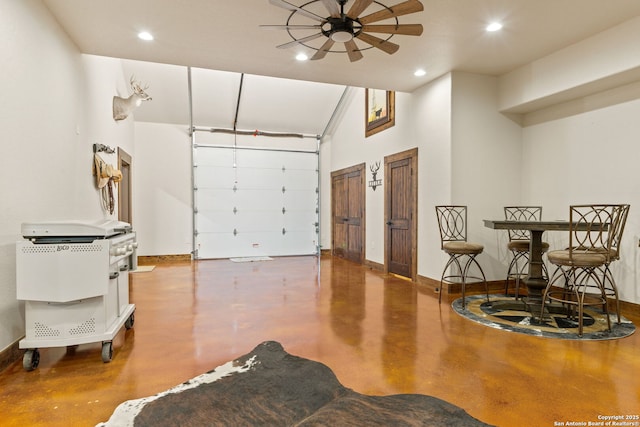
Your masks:
<svg viewBox="0 0 640 427"><path fill-rule="evenodd" d="M385 270L417 278L418 149L387 156L385 166Z"/></svg>

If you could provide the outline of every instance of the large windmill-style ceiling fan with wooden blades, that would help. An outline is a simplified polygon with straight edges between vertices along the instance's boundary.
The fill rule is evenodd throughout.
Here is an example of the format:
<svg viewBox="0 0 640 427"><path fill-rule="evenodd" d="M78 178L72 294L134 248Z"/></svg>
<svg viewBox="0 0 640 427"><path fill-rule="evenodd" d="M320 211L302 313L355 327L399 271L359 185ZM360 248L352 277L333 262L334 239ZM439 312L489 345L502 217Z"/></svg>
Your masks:
<svg viewBox="0 0 640 427"><path fill-rule="evenodd" d="M388 54L397 52L400 46L389 41L389 39L396 34L406 36L419 36L422 34L421 24L400 24L398 22L398 16L424 10L422 3L418 0L407 0L395 6L386 6L376 0L354 0L349 11L345 13L344 8L348 1L349 0L312 0L302 6L296 6L285 0L269 0L269 3L274 6L290 10L291 15L289 15L285 25L261 25L261 27L287 30L293 41L279 45L277 46L278 48L283 49L301 44L316 50L316 53L311 57L312 60L322 59L328 52L346 52L351 62L362 59L361 51L371 48L380 49ZM324 17L321 15L322 12L317 11L317 8L316 10L312 9L313 4L317 2L321 2L324 5L329 16ZM376 4L379 7L378 10L360 17L359 15L372 4ZM291 23L292 18L298 18L300 16L312 19L318 22L318 24L296 25ZM395 22L371 25L374 22L387 19L392 19ZM293 35L292 31L297 32L298 30L316 30L317 32L297 38ZM388 36L386 38L379 38L370 33L382 33L388 34ZM322 46L313 47L307 44L311 40L323 36L326 37L326 41ZM369 46L358 47L356 40L362 41ZM344 43L345 50L331 50L335 43Z"/></svg>

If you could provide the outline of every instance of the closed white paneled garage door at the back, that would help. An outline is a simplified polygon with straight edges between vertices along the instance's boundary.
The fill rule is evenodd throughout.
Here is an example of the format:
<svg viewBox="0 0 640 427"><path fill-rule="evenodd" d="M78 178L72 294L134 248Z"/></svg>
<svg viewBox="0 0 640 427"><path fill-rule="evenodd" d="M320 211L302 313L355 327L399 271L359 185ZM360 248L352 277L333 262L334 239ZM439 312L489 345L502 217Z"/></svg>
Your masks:
<svg viewBox="0 0 640 427"><path fill-rule="evenodd" d="M315 255L318 153L196 146L194 209L196 259Z"/></svg>

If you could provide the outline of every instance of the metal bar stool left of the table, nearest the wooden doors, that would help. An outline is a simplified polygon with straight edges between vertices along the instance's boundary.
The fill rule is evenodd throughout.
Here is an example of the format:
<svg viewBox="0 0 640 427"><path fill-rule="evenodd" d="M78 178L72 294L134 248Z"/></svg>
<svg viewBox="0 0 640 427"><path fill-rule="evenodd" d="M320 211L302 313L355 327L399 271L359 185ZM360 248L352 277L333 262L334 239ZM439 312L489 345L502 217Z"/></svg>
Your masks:
<svg viewBox="0 0 640 427"><path fill-rule="evenodd" d="M484 246L478 243L467 242L467 207L459 205L436 206L438 227L440 228L440 248L449 255L449 260L444 266L440 278L440 295L438 303L442 302L442 284L447 282L459 282L462 284L462 308L466 306L465 287L471 280L474 283L484 282L484 289L489 302L489 287L482 267L478 264L476 256L482 253ZM482 276L471 276L469 268L475 265ZM457 268L457 271L449 271L449 268Z"/></svg>

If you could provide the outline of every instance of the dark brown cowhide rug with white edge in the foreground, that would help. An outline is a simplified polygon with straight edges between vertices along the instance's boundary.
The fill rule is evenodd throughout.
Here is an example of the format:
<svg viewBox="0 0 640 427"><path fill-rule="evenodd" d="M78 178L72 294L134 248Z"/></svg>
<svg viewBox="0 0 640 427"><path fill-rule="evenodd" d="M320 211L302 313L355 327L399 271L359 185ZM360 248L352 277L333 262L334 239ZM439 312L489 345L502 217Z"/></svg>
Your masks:
<svg viewBox="0 0 640 427"><path fill-rule="evenodd" d="M103 427L487 426L431 396L366 396L274 341L155 396L120 404Z"/></svg>

